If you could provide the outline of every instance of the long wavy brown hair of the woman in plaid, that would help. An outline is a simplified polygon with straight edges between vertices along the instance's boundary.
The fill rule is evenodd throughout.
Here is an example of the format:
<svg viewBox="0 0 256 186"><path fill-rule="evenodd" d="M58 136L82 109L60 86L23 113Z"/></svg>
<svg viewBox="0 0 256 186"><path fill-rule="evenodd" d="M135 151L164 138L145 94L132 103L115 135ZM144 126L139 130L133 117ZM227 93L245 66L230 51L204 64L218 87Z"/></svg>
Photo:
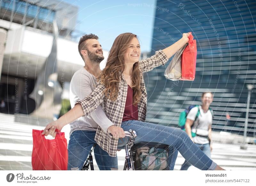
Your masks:
<svg viewBox="0 0 256 186"><path fill-rule="evenodd" d="M99 80L105 85L105 96L111 101L115 101L118 96L118 85L125 70L124 52L127 50L132 39L137 35L132 33L123 33L116 37L108 55L106 67L101 71ZM139 62L134 63L132 69L132 88L133 88L133 105L140 102L140 68Z"/></svg>

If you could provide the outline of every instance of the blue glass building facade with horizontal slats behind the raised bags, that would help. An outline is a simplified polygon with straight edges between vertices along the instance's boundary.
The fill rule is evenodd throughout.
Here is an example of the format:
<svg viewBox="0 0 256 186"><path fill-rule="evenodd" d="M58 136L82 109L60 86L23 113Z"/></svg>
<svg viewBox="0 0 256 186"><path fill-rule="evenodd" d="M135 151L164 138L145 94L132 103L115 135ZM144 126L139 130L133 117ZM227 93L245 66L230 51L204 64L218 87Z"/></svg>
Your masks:
<svg viewBox="0 0 256 186"><path fill-rule="evenodd" d="M248 94L251 96L248 136L256 132L256 2L181 0L156 2L152 51L172 45L192 32L197 44L194 81L171 81L166 66L145 75L147 121L177 127L180 112L199 105L212 91L213 131L243 134ZM254 85L248 90L247 85Z"/></svg>

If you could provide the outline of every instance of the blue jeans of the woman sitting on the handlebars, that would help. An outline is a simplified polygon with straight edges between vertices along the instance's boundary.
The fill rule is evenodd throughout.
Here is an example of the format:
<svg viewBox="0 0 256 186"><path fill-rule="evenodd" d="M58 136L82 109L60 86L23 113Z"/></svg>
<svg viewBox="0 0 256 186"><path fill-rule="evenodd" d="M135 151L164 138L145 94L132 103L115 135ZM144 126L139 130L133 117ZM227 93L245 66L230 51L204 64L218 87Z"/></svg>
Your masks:
<svg viewBox="0 0 256 186"><path fill-rule="evenodd" d="M122 122L121 127L124 131L135 130L137 137L134 144L141 142L156 142L169 145L172 155L169 157L169 169L173 170L177 151L188 160L190 164L201 170L214 170L217 166L208 156L204 154L189 138L187 133L180 128L166 127L153 123L142 122L138 120L128 120ZM170 153L171 154L171 153Z"/></svg>

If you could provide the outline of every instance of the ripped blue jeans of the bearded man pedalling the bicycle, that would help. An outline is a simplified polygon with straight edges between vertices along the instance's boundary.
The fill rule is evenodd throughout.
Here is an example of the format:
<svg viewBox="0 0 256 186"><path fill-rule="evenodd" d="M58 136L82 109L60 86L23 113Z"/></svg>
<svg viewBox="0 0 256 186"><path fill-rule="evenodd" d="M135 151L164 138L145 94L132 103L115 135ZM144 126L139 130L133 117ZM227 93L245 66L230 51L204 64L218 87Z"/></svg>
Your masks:
<svg viewBox="0 0 256 186"><path fill-rule="evenodd" d="M68 170L81 170L87 159L94 140L96 131L76 130L70 135L68 143ZM117 157L111 157L100 148L94 147L94 157L100 170L117 170Z"/></svg>

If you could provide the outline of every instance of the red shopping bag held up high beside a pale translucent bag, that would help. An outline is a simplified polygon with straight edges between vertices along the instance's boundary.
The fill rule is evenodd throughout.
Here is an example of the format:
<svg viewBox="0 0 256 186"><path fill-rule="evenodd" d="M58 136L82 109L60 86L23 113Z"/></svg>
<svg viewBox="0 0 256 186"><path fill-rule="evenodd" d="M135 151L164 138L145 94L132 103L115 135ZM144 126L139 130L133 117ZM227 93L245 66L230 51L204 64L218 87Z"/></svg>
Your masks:
<svg viewBox="0 0 256 186"><path fill-rule="evenodd" d="M193 40L193 35L189 32L188 46L181 54L181 78L180 80L193 81L196 74L196 40Z"/></svg>

